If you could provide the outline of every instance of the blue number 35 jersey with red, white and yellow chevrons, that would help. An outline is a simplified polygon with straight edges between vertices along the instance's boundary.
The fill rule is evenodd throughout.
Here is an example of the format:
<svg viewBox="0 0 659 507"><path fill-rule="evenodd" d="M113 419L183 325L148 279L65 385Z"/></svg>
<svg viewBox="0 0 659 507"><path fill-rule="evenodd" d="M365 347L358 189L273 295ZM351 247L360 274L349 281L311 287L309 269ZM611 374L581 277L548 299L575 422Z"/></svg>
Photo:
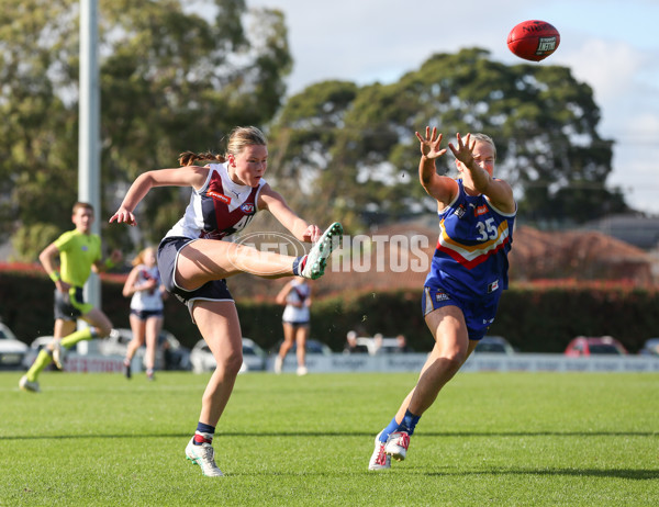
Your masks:
<svg viewBox="0 0 659 507"><path fill-rule="evenodd" d="M515 213L496 210L484 195L459 192L439 215L439 239L425 284L461 298L499 296L507 289L507 252Z"/></svg>

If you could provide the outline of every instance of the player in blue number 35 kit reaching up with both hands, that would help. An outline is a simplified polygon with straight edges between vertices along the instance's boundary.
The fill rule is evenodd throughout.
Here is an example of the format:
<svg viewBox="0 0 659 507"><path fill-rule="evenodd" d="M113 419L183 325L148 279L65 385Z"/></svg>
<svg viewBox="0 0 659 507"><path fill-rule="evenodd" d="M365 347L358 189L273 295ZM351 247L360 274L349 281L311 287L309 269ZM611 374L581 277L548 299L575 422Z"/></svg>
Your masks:
<svg viewBox="0 0 659 507"><path fill-rule="evenodd" d="M418 178L437 201L439 239L426 277L422 308L435 346L418 381L391 422L376 437L369 470L405 459L422 414L453 379L494 322L499 297L507 289L507 252L516 204L511 187L493 177L496 148L484 134L457 135L458 179L437 174L435 160L446 153L442 134L426 127Z"/></svg>

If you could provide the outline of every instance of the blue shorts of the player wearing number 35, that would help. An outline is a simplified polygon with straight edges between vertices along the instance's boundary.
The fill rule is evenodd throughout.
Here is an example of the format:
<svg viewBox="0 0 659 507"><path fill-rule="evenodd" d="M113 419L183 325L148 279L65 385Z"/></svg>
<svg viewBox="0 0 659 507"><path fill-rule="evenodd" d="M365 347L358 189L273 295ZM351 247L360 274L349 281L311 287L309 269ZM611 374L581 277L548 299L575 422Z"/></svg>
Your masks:
<svg viewBox="0 0 659 507"><path fill-rule="evenodd" d="M494 322L499 296L462 300L449 295L444 289L424 286L421 297L421 308L425 317L431 312L444 306L457 306L462 311L467 323L467 333L470 340L480 340Z"/></svg>

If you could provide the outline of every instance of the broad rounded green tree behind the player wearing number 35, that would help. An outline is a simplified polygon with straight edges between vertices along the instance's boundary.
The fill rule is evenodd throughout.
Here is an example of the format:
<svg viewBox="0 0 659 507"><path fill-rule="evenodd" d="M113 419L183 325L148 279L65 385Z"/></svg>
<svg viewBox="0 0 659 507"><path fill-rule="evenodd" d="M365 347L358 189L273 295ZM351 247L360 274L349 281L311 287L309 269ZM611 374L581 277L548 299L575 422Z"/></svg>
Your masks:
<svg viewBox="0 0 659 507"><path fill-rule="evenodd" d="M434 210L416 176L414 132L426 125L445 143L457 132L491 135L525 219L582 222L626 210L605 185L613 142L599 122L591 88L569 69L509 66L470 48L434 55L392 84L314 84L288 101L272 138L281 174L306 181L310 213L347 213L355 227ZM438 170L455 172L453 157Z"/></svg>

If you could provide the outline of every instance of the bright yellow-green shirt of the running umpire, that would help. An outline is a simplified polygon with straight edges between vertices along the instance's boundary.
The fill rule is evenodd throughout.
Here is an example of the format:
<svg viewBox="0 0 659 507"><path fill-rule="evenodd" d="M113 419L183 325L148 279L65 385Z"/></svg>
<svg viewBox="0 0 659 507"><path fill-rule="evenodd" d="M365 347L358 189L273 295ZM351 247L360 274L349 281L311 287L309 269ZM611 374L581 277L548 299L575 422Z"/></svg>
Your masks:
<svg viewBox="0 0 659 507"><path fill-rule="evenodd" d="M54 243L59 250L62 280L69 285L83 286L91 274L91 264L101 259L100 236L68 230Z"/></svg>

